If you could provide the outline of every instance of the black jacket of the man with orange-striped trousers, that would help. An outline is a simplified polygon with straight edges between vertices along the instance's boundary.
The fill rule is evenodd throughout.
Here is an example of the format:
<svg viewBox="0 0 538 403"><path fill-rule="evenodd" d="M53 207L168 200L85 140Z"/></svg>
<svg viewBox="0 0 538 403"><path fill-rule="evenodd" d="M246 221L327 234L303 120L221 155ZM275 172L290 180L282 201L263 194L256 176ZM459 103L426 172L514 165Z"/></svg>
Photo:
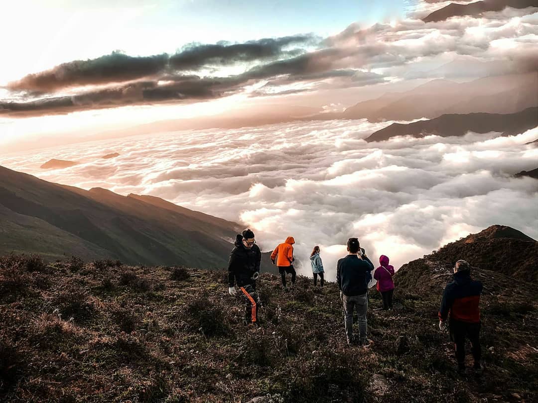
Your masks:
<svg viewBox="0 0 538 403"><path fill-rule="evenodd" d="M233 287L235 283L239 287L252 284L252 275L260 271L261 251L256 244L247 249L243 241L239 239L235 242L235 248L230 254L228 262L228 283Z"/></svg>

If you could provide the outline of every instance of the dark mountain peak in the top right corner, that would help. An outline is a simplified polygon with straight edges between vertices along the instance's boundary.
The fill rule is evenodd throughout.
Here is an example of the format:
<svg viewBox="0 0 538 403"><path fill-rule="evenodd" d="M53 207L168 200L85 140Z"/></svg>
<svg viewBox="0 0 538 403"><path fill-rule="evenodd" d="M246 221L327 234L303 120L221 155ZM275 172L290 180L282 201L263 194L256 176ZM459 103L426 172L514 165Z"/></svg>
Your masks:
<svg viewBox="0 0 538 403"><path fill-rule="evenodd" d="M456 16L477 16L485 11L501 11L506 7L514 9L525 9L527 7L538 7L537 0L485 0L469 4L450 3L442 9L430 13L422 20L425 23L433 21L444 21Z"/></svg>

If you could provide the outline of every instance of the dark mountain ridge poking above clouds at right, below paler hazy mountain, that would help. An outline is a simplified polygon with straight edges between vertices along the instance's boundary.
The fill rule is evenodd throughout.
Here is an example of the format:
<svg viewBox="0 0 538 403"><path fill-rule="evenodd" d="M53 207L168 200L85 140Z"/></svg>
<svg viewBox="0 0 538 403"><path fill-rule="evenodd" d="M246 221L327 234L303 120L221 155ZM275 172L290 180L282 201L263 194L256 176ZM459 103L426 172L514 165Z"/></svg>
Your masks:
<svg viewBox="0 0 538 403"><path fill-rule="evenodd" d="M435 134L442 137L462 136L475 133L501 132L514 135L538 126L538 107L511 114L468 113L444 114L430 120L420 120L409 124L393 123L372 133L366 141L384 141L394 136L412 135L423 137Z"/></svg>

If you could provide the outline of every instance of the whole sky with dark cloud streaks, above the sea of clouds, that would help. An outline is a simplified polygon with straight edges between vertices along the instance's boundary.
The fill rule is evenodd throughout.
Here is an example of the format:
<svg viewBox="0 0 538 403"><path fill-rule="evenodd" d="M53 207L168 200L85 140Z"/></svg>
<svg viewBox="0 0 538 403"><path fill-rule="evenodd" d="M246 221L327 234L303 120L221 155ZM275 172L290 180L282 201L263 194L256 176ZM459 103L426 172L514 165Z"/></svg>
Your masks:
<svg viewBox="0 0 538 403"><path fill-rule="evenodd" d="M342 111L361 100L421 84L414 80L463 80L466 71L469 80L484 77L489 70L495 70L493 75L528 71L525 66L532 62L528 55L538 43L536 9L428 24L414 12L429 13L446 2L2 3L0 147L4 151L15 143L19 145L13 150L29 148L36 141L45 144L42 140L51 135L78 141L103 131L260 104ZM299 34L309 35L298 40ZM292 42L275 40L291 36ZM328 37L332 38L322 41ZM243 51L219 55L214 50L203 56L207 47L201 45L207 44L221 44L226 52L245 45L257 50L246 51L247 57ZM164 53L179 53L188 59L189 52L199 64L174 65L166 57L164 68L159 57L147 57L161 55L164 60ZM117 62L118 54L130 61ZM159 67L151 67L155 64L146 59L157 60ZM459 64L450 65L456 59ZM140 63L150 63L151 68L147 64L140 68ZM17 87L20 82L22 87ZM40 87L39 82L56 87Z"/></svg>

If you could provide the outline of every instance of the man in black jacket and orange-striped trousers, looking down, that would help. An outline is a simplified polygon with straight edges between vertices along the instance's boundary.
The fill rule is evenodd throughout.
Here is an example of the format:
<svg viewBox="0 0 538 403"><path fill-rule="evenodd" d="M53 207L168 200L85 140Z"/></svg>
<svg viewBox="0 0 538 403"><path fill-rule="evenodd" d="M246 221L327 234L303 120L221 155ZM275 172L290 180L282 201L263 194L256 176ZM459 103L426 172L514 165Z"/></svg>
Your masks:
<svg viewBox="0 0 538 403"><path fill-rule="evenodd" d="M260 274L261 251L254 239L254 233L245 229L236 237L235 248L228 263L228 292L236 294L235 284L245 297L245 324L257 325L258 308L261 301L256 292L256 279Z"/></svg>

